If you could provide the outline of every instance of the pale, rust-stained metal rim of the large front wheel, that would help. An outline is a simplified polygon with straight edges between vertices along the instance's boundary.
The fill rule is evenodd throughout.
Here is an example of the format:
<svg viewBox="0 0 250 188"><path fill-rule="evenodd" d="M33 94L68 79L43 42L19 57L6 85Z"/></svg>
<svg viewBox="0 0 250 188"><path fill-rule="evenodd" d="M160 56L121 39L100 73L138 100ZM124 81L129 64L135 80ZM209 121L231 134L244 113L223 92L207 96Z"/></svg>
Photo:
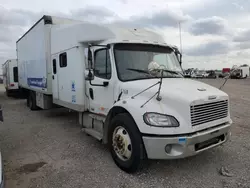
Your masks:
<svg viewBox="0 0 250 188"><path fill-rule="evenodd" d="M132 155L132 143L128 131L118 126L112 136L112 146L116 155L123 161L130 159Z"/></svg>

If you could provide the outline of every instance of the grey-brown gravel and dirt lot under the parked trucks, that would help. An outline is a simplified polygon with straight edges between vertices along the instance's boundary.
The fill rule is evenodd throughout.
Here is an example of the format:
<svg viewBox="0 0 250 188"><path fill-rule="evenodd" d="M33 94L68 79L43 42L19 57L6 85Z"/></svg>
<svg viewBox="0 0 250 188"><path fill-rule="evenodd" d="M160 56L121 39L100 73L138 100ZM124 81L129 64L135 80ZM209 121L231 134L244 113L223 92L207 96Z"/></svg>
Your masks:
<svg viewBox="0 0 250 188"><path fill-rule="evenodd" d="M219 86L223 80L204 82ZM24 100L8 99L1 89L6 187L250 187L250 79L229 80L223 90L231 99L231 141L187 159L150 161L144 171L128 175L106 147L80 131L76 114L31 112ZM221 168L229 174L221 175Z"/></svg>

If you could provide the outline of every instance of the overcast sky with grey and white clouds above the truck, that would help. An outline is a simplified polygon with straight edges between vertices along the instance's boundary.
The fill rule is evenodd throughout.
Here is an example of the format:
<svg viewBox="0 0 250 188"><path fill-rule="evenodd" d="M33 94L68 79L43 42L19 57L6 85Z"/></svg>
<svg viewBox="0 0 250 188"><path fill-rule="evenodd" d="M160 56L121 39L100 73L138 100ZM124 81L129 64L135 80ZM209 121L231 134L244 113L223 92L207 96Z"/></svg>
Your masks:
<svg viewBox="0 0 250 188"><path fill-rule="evenodd" d="M177 46L181 21L184 68L250 64L250 0L0 0L0 64L43 14L148 27Z"/></svg>

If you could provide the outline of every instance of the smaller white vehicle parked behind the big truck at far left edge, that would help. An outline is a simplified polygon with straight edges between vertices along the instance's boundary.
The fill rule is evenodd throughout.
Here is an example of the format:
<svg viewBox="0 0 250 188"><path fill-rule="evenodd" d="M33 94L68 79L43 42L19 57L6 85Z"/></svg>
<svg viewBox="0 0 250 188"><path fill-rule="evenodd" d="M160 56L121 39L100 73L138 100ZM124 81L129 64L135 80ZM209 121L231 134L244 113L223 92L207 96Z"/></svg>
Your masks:
<svg viewBox="0 0 250 188"><path fill-rule="evenodd" d="M18 88L18 68L17 60L9 59L3 65L3 84L6 90L6 95L17 94Z"/></svg>

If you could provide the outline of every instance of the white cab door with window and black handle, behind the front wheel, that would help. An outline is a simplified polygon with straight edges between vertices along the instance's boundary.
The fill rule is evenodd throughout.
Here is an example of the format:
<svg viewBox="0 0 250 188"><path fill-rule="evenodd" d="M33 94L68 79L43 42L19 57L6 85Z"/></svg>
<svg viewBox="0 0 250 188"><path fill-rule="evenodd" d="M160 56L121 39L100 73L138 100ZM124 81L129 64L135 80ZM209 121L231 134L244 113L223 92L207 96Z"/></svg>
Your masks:
<svg viewBox="0 0 250 188"><path fill-rule="evenodd" d="M107 115L114 104L114 71L111 65L108 49L94 51L94 77L91 81L86 81L90 112Z"/></svg>

